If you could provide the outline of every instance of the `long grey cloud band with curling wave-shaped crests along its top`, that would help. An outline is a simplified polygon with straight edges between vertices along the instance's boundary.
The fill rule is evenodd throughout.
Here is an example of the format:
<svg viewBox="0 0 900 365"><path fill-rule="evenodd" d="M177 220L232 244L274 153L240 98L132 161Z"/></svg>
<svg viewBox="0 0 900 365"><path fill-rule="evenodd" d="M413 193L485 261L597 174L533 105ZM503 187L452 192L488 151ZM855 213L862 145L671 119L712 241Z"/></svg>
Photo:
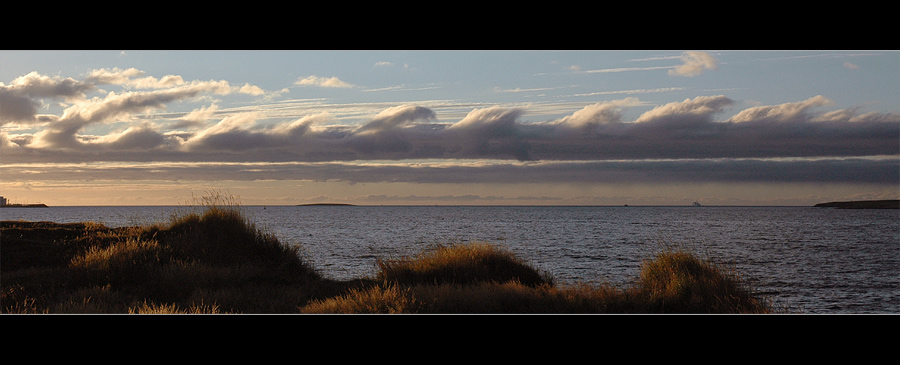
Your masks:
<svg viewBox="0 0 900 365"><path fill-rule="evenodd" d="M4 148L10 152L7 158L24 158L25 151L49 153L66 147L69 153L58 158L133 158L127 153L96 155L89 151L124 135L88 138L79 131L91 123L162 108L165 101L180 100L193 95L192 91L197 90L179 87L167 92L110 94L92 104L73 106L33 136L5 137ZM233 112L196 132L154 135L148 131L153 127L144 124L128 135L146 138L134 146L153 147L150 152L165 152L165 158L200 161L846 157L896 155L900 150L900 115L856 109L817 113L817 107L830 103L821 96L752 107L721 121L716 116L735 102L722 95L701 96L660 105L635 120L624 120L624 110L639 103L636 98L595 103L556 120L528 123L520 120L527 109L498 106L472 109L449 123L437 122L437 113L429 108L388 107L359 126L327 124L335 120L325 112L277 123L266 121L261 111ZM175 125L190 122L193 128L203 126L206 120L214 120L216 108L195 109ZM72 153L79 148L84 154Z"/></svg>

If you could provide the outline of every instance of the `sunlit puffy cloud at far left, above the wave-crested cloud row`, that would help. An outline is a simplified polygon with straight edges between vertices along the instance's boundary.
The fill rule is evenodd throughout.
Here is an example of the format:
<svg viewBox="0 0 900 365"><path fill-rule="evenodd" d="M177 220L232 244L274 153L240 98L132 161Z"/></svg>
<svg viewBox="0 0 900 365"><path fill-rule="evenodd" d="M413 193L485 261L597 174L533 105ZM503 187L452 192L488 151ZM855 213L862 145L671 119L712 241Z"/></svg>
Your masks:
<svg viewBox="0 0 900 365"><path fill-rule="evenodd" d="M122 140L126 136L150 138L150 127L129 129L125 135L93 138L80 133L88 126L109 123L111 121L128 122L135 119L135 114L165 109L168 104L189 100L203 95L227 95L244 93L258 95L261 89L252 85L232 87L227 81L193 81L184 82L179 76L167 76L162 79L153 77L135 77L143 73L136 69L101 69L94 70L83 81L72 78L62 79L29 73L13 81L11 85L0 85L0 125L10 123L44 123L46 126L31 136L18 137L15 140L27 142L30 149L82 149L96 147L98 144ZM99 90L97 85L125 85L135 88L149 88L150 91L109 92L101 98L88 100L85 92ZM44 99L63 99L70 102L61 115L37 115L37 107ZM186 120L187 121L187 120ZM138 143L130 147L156 146L162 144L159 138L163 134L153 132L150 140L155 142ZM5 137L5 148L13 148L9 142L14 139ZM142 141L144 139L142 138ZM136 140L133 142L137 142ZM115 143L112 143L115 146ZM22 146L22 144L18 144ZM132 148L133 149L133 148Z"/></svg>

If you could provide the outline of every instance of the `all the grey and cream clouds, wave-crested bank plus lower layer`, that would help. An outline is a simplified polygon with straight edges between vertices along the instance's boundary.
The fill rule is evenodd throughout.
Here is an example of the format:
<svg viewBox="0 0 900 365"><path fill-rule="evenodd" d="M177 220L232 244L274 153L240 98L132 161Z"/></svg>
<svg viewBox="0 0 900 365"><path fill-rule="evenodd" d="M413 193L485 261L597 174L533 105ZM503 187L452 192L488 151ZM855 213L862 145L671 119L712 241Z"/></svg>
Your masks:
<svg viewBox="0 0 900 365"><path fill-rule="evenodd" d="M671 71L690 76L715 67L703 54L686 53L684 65ZM317 77L298 84L351 86ZM124 91L103 94L104 85ZM92 92L101 95L89 98ZM821 95L731 116L725 112L735 100L697 96L633 120L625 120L624 112L638 100L626 98L540 122L521 120L527 108L473 108L459 120L440 121L434 110L401 104L354 125L324 111L292 118L254 109L226 113L215 100L227 95L265 91L227 81L149 77L135 69L95 70L83 80L30 73L0 84L4 176L20 176L15 171L24 166L44 177L78 170L66 163L132 179L151 169L172 178L411 182L896 183L900 176L900 115L823 112L831 101ZM177 117L157 114L185 102L205 105ZM39 113L47 103L64 108ZM105 134L89 132L113 124L119 127ZM51 172L40 167L47 163L62 165Z"/></svg>

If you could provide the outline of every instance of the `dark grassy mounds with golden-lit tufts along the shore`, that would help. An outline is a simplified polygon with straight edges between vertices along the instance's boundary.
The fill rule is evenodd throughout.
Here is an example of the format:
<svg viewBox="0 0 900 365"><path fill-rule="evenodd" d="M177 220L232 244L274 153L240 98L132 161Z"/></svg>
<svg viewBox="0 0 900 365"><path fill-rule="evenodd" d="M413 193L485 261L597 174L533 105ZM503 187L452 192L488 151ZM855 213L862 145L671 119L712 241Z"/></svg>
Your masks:
<svg viewBox="0 0 900 365"><path fill-rule="evenodd" d="M772 313L739 277L683 250L629 288L563 286L500 247L450 245L323 278L297 247L212 205L168 224L0 223L2 313Z"/></svg>

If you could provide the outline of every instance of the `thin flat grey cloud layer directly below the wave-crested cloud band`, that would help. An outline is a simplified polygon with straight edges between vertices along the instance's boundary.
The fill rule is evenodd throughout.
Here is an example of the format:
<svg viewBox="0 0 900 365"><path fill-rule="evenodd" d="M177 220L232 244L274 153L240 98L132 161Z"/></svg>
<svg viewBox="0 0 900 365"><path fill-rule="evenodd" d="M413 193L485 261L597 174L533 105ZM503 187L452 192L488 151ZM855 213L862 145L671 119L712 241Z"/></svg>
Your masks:
<svg viewBox="0 0 900 365"><path fill-rule="evenodd" d="M0 174L16 180L253 181L306 180L421 184L543 183L855 183L900 184L900 160L665 159L615 161L394 161L394 162L141 162L4 164Z"/></svg>

